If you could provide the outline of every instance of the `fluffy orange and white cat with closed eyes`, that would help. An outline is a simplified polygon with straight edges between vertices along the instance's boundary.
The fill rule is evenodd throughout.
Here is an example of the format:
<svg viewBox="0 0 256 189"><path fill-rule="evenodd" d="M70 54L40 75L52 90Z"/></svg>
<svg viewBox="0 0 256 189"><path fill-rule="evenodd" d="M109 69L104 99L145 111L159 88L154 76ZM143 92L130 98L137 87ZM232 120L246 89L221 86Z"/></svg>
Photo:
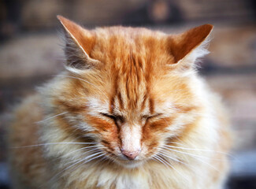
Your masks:
<svg viewBox="0 0 256 189"><path fill-rule="evenodd" d="M65 71L15 110L13 187L223 188L228 116L196 71L213 26L167 35L58 20Z"/></svg>

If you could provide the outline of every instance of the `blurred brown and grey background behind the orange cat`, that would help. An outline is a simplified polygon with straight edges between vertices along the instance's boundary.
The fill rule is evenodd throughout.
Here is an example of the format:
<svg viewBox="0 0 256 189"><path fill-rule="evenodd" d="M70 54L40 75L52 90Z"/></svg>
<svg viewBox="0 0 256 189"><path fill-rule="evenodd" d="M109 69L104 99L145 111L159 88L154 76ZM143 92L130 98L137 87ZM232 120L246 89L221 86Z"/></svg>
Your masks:
<svg viewBox="0 0 256 189"><path fill-rule="evenodd" d="M143 26L177 33L213 24L199 70L220 93L236 132L228 189L256 188L255 0L0 0L0 188L9 188L9 109L63 69L61 14L87 28Z"/></svg>

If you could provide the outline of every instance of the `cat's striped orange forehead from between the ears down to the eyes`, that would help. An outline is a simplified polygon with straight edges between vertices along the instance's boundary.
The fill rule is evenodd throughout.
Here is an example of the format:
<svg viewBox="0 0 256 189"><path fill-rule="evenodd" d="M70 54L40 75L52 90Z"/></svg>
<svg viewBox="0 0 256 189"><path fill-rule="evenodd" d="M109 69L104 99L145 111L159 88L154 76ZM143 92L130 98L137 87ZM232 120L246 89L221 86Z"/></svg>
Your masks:
<svg viewBox="0 0 256 189"><path fill-rule="evenodd" d="M154 111L152 87L154 77L160 77L161 69L171 56L165 49L165 34L146 28L98 28L91 56L106 66L110 111L132 109ZM112 110L111 110L112 109Z"/></svg>

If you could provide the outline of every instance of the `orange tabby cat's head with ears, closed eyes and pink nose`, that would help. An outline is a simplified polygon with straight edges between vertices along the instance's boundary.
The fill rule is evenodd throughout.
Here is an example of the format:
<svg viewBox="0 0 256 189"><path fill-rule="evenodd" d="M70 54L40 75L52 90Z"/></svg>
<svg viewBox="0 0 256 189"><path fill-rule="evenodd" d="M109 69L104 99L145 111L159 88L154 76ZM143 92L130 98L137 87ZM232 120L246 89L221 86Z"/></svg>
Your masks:
<svg viewBox="0 0 256 189"><path fill-rule="evenodd" d="M167 141L189 135L202 109L195 60L213 26L180 35L146 28L65 28L65 76L52 101L61 129L98 143L124 167L150 160Z"/></svg>

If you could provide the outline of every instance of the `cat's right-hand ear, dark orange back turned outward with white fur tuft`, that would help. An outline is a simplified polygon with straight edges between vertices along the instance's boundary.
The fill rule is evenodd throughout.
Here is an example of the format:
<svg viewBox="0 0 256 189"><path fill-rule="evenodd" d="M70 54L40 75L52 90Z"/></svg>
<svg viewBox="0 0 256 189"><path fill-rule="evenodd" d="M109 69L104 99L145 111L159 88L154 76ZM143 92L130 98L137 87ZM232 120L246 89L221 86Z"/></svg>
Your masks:
<svg viewBox="0 0 256 189"><path fill-rule="evenodd" d="M206 44L212 30L213 25L204 24L180 35L169 35L169 50L174 57L174 63L185 61L191 64L198 57L208 54Z"/></svg>

